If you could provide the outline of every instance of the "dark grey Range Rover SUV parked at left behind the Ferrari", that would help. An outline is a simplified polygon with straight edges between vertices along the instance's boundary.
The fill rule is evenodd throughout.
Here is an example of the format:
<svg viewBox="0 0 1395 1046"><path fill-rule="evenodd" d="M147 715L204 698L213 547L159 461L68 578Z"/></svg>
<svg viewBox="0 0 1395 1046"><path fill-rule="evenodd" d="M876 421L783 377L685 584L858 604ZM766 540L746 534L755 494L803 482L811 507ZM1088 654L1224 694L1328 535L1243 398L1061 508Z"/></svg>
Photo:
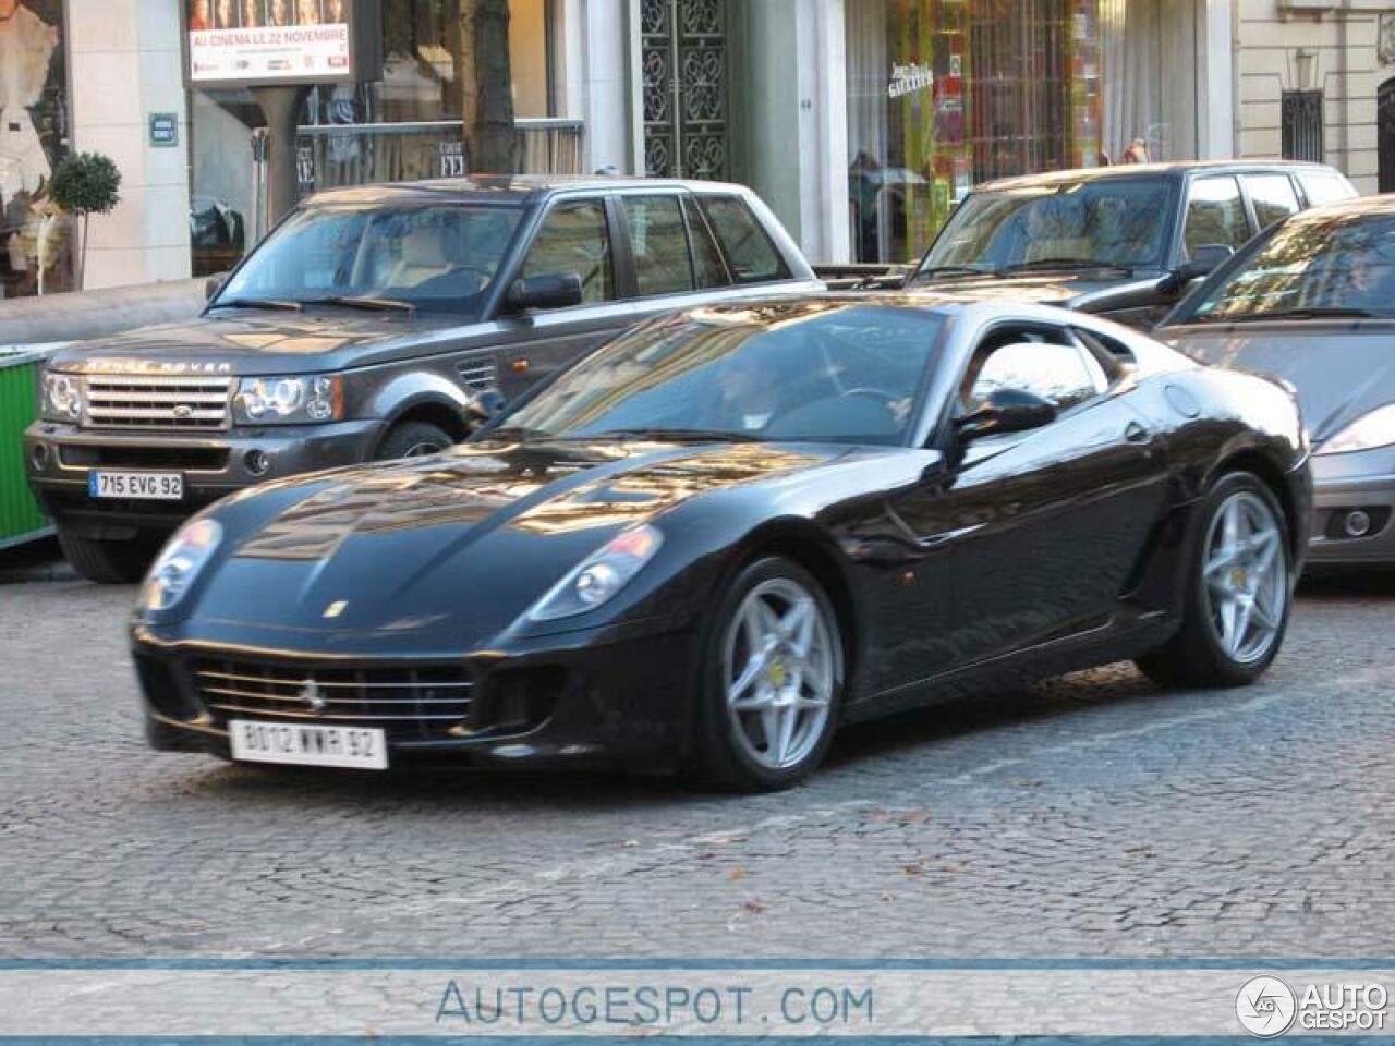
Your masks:
<svg viewBox="0 0 1395 1046"><path fill-rule="evenodd" d="M56 353L25 438L29 480L80 572L138 580L180 522L232 491L439 450L651 315L819 286L738 185L324 192L198 321Z"/></svg>

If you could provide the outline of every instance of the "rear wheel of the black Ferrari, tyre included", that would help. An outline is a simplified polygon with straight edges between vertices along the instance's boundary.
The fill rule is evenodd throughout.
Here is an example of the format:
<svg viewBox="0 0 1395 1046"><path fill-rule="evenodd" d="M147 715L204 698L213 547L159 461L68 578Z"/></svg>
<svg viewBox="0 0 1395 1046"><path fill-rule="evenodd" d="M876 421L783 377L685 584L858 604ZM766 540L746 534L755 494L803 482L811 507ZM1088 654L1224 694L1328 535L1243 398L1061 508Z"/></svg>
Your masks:
<svg viewBox="0 0 1395 1046"><path fill-rule="evenodd" d="M1274 492L1251 473L1222 477L1201 512L1182 630L1138 667L1169 686L1243 686L1269 667L1288 629L1288 526Z"/></svg>

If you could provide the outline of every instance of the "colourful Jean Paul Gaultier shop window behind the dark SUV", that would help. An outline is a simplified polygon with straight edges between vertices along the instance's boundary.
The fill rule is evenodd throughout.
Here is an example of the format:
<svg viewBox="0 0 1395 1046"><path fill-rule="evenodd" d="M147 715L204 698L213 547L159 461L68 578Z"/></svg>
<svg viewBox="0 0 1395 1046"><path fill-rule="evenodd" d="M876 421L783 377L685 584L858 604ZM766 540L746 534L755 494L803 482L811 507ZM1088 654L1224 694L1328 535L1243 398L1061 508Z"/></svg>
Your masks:
<svg viewBox="0 0 1395 1046"><path fill-rule="evenodd" d="M1191 0L857 0L845 11L855 261L917 258L992 179L1194 155L1194 57L1180 46Z"/></svg>

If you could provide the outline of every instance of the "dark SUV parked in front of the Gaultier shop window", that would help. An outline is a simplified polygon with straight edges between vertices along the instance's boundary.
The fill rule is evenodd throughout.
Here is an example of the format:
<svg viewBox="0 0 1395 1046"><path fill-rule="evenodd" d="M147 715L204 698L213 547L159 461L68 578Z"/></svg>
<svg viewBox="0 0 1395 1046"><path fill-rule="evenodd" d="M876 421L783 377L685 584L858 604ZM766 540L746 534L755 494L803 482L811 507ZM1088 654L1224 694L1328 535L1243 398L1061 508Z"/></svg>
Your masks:
<svg viewBox="0 0 1395 1046"><path fill-rule="evenodd" d="M1315 163L1152 163L990 181L956 208L908 287L1027 298L1152 328L1256 233L1350 199Z"/></svg>

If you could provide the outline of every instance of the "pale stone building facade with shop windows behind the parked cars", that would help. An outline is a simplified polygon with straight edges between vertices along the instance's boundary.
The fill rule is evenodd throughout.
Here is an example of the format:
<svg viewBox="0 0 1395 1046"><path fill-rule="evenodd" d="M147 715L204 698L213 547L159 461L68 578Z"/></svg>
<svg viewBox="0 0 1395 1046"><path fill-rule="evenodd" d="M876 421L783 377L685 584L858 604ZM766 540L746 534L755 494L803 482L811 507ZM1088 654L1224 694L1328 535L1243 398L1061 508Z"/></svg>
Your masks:
<svg viewBox="0 0 1395 1046"><path fill-rule="evenodd" d="M278 3L208 17L255 25ZM303 192L469 167L456 0L381 3L381 78L307 102ZM525 170L744 181L820 262L908 261L972 185L1039 170L1288 153L1395 188L1395 0L511 0L511 15ZM0 0L0 109L4 296L71 287L74 237L43 185L74 149L123 173L121 205L92 222L89 287L223 271L265 227L258 109L186 91L179 0Z"/></svg>

